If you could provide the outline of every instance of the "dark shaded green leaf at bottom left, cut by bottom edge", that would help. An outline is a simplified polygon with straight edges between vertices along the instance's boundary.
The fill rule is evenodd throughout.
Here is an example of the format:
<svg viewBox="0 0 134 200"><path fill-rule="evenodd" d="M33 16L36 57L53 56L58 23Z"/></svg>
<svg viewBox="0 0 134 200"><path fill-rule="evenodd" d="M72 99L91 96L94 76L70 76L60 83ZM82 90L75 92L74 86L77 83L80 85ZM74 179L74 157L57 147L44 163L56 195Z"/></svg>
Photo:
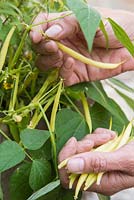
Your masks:
<svg viewBox="0 0 134 200"><path fill-rule="evenodd" d="M13 172L9 185L11 200L26 200L32 194L29 186L30 169L31 164L25 163Z"/></svg>

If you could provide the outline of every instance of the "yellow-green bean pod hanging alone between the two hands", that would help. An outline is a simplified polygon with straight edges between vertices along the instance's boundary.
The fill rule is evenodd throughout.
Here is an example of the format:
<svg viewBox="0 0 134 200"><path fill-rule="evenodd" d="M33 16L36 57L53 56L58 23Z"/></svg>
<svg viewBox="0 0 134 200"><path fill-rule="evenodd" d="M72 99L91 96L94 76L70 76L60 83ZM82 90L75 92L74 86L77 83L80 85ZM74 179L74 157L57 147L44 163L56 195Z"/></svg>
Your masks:
<svg viewBox="0 0 134 200"><path fill-rule="evenodd" d="M90 116L89 105L88 105L87 98L86 98L84 92L81 92L81 101L83 104L85 119L88 124L89 131L91 133L92 132L92 120L91 120L91 116Z"/></svg>

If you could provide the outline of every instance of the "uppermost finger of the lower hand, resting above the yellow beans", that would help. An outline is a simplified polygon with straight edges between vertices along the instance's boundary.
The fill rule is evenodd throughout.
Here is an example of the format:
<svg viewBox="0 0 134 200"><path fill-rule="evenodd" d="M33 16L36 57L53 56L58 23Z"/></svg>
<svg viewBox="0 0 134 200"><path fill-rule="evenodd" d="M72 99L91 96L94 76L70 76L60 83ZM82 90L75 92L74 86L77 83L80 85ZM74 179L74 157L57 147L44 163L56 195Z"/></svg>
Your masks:
<svg viewBox="0 0 134 200"><path fill-rule="evenodd" d="M105 128L97 128L92 134L86 135L82 141L92 141L94 147L97 147L114 139L115 136L116 133L114 131Z"/></svg>

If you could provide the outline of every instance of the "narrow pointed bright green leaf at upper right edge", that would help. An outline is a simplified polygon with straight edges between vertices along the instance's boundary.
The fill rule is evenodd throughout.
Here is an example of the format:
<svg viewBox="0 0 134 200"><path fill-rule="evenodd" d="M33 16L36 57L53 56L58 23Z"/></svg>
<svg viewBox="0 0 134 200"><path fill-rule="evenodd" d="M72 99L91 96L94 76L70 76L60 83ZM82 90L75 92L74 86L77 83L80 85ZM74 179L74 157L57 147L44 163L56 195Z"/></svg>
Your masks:
<svg viewBox="0 0 134 200"><path fill-rule="evenodd" d="M120 41L120 43L128 49L128 51L131 53L132 56L134 56L134 45L132 41L130 40L129 36L125 32L125 30L117 24L115 21L113 21L111 18L108 18L109 23L112 26L112 29L114 31L115 36Z"/></svg>

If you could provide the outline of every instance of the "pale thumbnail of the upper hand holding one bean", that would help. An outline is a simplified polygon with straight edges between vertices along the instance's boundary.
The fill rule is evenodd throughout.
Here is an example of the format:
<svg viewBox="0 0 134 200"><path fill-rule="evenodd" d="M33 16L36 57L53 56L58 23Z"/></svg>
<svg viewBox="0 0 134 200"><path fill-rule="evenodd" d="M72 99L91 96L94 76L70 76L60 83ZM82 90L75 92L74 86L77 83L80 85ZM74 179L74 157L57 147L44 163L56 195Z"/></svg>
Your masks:
<svg viewBox="0 0 134 200"><path fill-rule="evenodd" d="M48 37L56 37L59 33L61 33L62 27L59 25L51 26L45 33Z"/></svg>

